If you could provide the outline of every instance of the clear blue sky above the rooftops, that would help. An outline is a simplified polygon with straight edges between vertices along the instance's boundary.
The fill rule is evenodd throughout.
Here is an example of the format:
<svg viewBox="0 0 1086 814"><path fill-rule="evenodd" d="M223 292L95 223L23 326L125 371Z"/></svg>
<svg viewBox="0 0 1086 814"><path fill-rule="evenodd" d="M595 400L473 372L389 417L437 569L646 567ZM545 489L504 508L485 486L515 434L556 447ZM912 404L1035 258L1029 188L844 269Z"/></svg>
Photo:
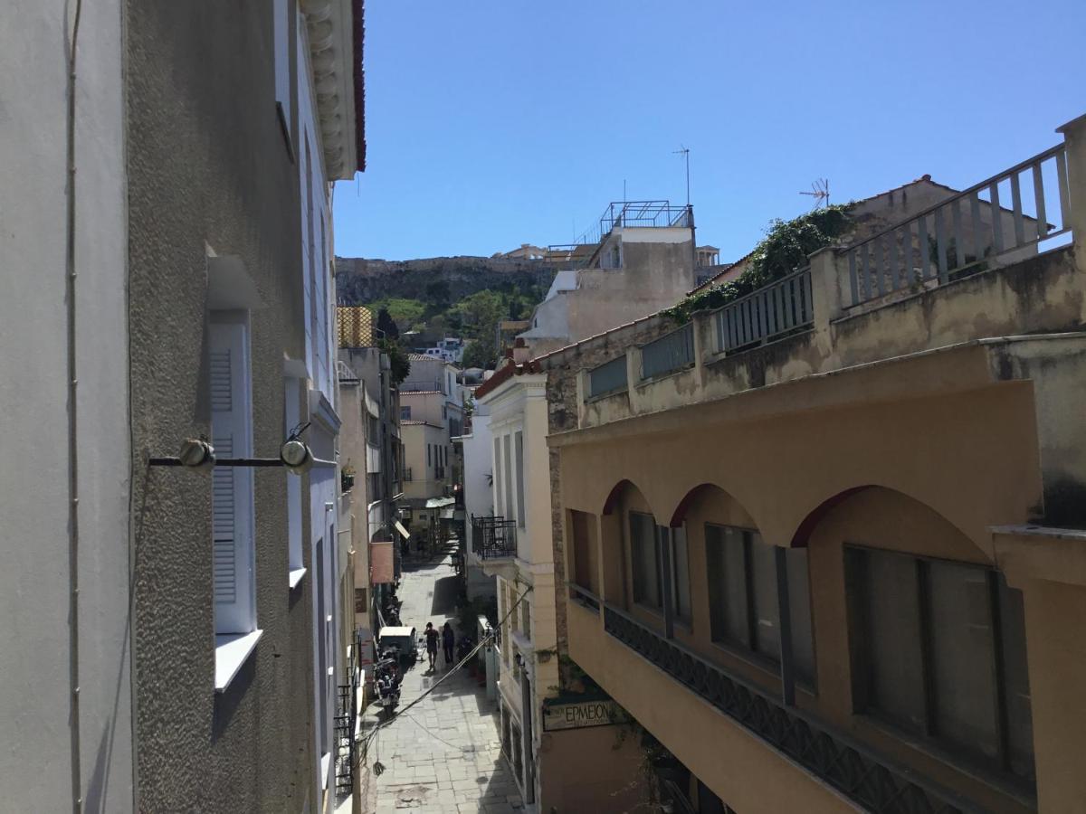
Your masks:
<svg viewBox="0 0 1086 814"><path fill-rule="evenodd" d="M367 169L336 253L571 242L685 202L735 259L773 217L930 173L968 187L1086 113L1086 1L368 0Z"/></svg>

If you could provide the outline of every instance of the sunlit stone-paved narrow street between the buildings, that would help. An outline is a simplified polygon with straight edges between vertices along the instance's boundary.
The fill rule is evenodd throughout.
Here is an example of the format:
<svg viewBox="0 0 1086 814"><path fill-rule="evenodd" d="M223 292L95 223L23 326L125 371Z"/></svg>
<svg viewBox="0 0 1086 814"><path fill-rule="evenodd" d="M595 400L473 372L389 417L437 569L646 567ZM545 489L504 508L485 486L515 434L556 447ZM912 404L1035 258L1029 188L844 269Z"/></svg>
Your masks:
<svg viewBox="0 0 1086 814"><path fill-rule="evenodd" d="M418 628L427 622L440 628L455 622L456 584L450 551L427 562L404 564L399 592L403 624ZM458 635L458 634L457 634ZM441 653L434 672L427 660L406 670L399 709L403 709L445 675ZM379 720L380 707L370 704L363 738ZM467 670L450 676L438 689L391 724L370 745L366 759L366 811L377 814L412 810L452 814L508 814L521 811L517 786L502 758L497 704L487 699ZM383 765L377 776L375 762Z"/></svg>

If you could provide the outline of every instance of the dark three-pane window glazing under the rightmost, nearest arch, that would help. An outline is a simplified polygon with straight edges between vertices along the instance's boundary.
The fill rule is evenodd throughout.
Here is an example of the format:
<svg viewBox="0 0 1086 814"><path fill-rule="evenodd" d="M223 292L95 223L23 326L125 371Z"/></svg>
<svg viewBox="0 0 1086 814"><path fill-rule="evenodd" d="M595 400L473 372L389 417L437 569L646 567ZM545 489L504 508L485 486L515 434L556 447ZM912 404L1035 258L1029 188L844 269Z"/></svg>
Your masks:
<svg viewBox="0 0 1086 814"><path fill-rule="evenodd" d="M978 565L856 548L846 557L858 711L1032 780L1021 593Z"/></svg>

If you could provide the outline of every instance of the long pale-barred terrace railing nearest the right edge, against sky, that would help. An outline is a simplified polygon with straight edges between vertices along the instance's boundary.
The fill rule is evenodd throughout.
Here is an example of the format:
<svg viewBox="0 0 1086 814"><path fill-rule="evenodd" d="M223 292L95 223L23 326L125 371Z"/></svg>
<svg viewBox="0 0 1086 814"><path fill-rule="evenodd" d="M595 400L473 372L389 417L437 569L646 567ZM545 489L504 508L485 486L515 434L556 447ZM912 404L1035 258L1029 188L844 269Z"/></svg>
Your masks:
<svg viewBox="0 0 1086 814"><path fill-rule="evenodd" d="M1070 231L1070 214L1066 150L1057 144L849 247L851 305L983 271Z"/></svg>

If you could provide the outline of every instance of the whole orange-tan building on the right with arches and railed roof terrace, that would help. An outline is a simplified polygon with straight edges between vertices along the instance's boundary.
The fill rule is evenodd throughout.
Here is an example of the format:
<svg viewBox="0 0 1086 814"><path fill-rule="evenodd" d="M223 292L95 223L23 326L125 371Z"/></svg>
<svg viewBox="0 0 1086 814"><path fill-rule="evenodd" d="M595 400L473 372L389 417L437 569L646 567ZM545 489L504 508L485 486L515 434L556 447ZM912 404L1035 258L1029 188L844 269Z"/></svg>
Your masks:
<svg viewBox="0 0 1086 814"><path fill-rule="evenodd" d="M1060 132L514 367L546 379L558 653L664 810L1081 809L1086 117Z"/></svg>

